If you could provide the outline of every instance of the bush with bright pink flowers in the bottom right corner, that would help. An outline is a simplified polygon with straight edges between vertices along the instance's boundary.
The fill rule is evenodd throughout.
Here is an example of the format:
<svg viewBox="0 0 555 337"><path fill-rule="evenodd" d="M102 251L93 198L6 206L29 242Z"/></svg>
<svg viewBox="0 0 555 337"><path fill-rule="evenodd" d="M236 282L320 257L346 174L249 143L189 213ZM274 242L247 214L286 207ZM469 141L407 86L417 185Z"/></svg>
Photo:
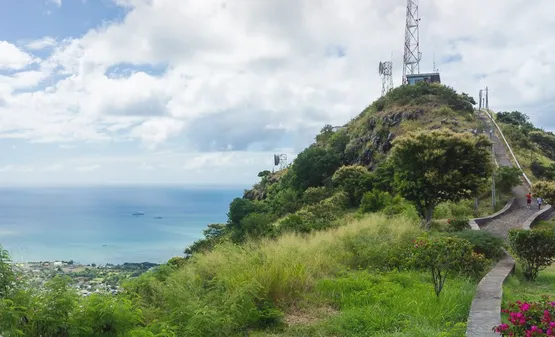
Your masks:
<svg viewBox="0 0 555 337"><path fill-rule="evenodd" d="M537 302L508 303L502 311L508 322L493 328L501 336L555 336L555 302L549 296Z"/></svg>

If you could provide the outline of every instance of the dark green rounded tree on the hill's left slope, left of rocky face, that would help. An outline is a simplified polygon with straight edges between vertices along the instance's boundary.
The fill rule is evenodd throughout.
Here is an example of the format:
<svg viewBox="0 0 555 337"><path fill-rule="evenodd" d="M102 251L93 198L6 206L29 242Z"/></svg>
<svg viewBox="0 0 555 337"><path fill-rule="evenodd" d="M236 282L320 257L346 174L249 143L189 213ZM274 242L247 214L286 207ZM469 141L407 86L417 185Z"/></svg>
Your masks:
<svg viewBox="0 0 555 337"><path fill-rule="evenodd" d="M304 191L309 187L324 186L341 166L337 153L312 146L299 153L289 169L292 187Z"/></svg>

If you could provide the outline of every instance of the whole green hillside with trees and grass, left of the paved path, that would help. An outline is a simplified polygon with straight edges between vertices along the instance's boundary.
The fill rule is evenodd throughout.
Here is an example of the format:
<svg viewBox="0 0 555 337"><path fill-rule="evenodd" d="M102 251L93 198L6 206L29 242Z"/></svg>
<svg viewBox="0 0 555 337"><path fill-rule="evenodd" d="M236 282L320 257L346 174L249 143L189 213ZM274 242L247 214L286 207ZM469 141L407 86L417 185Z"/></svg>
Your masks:
<svg viewBox="0 0 555 337"><path fill-rule="evenodd" d="M475 212L493 211L490 144L468 132L481 128L473 103L420 83L340 130L325 126L288 168L260 172L185 258L127 280L117 296L79 298L63 275L30 288L3 254L0 332L464 336L475 286L502 252L500 239L464 231ZM426 164L412 172L414 161ZM420 199L433 201L431 224Z"/></svg>

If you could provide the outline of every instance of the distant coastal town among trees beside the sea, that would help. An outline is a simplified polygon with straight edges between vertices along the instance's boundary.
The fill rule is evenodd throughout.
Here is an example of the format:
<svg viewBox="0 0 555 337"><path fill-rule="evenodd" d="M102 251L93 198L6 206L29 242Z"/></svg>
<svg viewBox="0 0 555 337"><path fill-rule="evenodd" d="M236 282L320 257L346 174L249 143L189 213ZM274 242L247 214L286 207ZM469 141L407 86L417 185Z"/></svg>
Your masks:
<svg viewBox="0 0 555 337"><path fill-rule="evenodd" d="M14 262L13 267L27 278L29 286L41 288L56 275L67 275L81 296L120 292L120 282L157 268L157 263L77 264L70 261Z"/></svg>

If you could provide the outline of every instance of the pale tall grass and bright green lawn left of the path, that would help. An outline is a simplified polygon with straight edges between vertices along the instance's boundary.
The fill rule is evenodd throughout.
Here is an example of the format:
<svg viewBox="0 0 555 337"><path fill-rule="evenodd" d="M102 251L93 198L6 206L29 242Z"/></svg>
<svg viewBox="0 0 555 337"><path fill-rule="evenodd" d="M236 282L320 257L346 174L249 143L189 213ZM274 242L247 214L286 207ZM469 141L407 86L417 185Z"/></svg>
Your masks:
<svg viewBox="0 0 555 337"><path fill-rule="evenodd" d="M151 279L156 291L144 301L162 311L194 312L178 321L184 335L240 335L233 326L270 301L285 324L252 327L250 335L463 336L474 281L449 279L437 299L428 274L377 270L389 252L419 233L415 221L373 214L309 237L223 244L164 282Z"/></svg>

